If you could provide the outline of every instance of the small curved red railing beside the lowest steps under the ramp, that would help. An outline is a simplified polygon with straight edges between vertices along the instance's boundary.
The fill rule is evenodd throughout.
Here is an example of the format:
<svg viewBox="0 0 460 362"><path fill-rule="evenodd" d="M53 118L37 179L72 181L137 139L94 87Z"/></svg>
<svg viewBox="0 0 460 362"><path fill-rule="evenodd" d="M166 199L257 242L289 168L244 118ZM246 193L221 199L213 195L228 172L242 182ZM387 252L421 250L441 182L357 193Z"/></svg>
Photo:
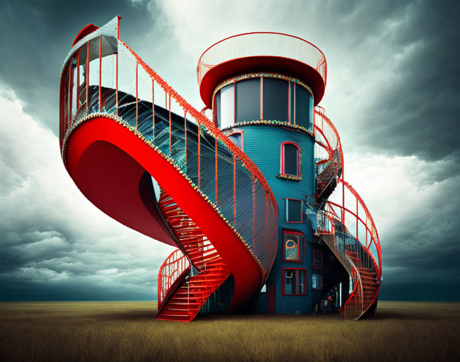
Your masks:
<svg viewBox="0 0 460 362"><path fill-rule="evenodd" d="M158 309L168 297L171 286L190 271L190 262L180 249L171 252L158 271Z"/></svg>

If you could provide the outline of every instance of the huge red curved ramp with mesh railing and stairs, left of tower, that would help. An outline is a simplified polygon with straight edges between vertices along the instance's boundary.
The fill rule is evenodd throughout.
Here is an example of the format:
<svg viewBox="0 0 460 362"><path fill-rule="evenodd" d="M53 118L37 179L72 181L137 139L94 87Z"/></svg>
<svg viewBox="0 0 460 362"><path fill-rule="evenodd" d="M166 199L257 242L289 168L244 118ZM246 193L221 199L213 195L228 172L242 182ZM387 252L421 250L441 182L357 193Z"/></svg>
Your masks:
<svg viewBox="0 0 460 362"><path fill-rule="evenodd" d="M63 161L88 200L180 248L160 270L160 319L193 319L230 277L228 311L256 292L276 255L273 193L232 141L118 39L117 18L72 47L60 111Z"/></svg>

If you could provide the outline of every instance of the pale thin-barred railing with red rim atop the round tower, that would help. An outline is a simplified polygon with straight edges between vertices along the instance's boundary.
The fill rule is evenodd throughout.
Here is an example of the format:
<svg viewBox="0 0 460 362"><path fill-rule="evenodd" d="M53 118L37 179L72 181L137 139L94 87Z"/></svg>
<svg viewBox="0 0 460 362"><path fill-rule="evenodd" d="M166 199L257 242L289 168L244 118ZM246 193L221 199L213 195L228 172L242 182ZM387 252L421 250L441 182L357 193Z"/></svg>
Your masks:
<svg viewBox="0 0 460 362"><path fill-rule="evenodd" d="M272 56L297 60L315 69L327 80L328 67L321 50L312 43L293 35L276 32L252 32L234 35L207 48L197 66L198 84L209 69L239 58Z"/></svg>

